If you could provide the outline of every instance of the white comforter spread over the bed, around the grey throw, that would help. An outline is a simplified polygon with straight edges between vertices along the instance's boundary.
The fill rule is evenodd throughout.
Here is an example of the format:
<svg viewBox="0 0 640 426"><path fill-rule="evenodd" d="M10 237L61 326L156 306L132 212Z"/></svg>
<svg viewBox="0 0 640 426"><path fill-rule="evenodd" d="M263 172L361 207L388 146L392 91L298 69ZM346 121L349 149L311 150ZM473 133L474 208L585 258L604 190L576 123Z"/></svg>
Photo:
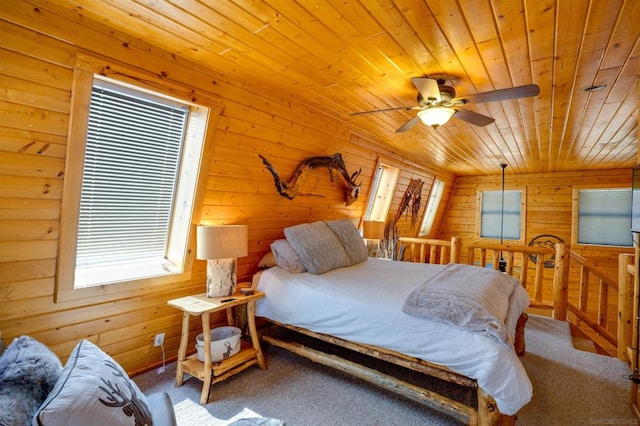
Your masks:
<svg viewBox="0 0 640 426"><path fill-rule="evenodd" d="M532 386L512 349L472 331L402 312L405 299L443 266L369 258L322 275L264 271L258 289L266 297L257 315L353 342L381 346L441 364L478 381L500 412L515 414L531 400ZM514 291L507 317L509 343L529 304Z"/></svg>

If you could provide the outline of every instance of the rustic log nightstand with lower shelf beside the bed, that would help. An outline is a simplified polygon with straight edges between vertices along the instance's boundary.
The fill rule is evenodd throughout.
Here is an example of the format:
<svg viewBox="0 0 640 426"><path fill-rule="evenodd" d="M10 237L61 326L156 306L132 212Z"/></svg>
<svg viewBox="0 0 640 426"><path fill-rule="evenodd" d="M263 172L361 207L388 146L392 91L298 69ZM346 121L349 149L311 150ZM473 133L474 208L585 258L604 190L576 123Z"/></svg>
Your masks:
<svg viewBox="0 0 640 426"><path fill-rule="evenodd" d="M184 373L188 373L201 380L202 394L200 396L200 404L206 404L209 401L209 390L212 383L221 382L256 363L263 370L267 368L262 350L260 349L260 341L255 323L256 301L263 297L264 293L254 291L253 294L247 296L240 293L225 297L207 297L205 294L199 294L196 296L181 297L167 302L169 306L184 312L182 316L182 337L176 366L176 386L182 386ZM212 362L209 325L210 315L226 310L227 322L229 325L234 325L235 316L233 315L232 308L242 305L247 306L247 324L249 336L251 337L251 345L242 341L240 352L220 362ZM197 354L187 357L189 317L191 315L202 318L204 362L198 360Z"/></svg>

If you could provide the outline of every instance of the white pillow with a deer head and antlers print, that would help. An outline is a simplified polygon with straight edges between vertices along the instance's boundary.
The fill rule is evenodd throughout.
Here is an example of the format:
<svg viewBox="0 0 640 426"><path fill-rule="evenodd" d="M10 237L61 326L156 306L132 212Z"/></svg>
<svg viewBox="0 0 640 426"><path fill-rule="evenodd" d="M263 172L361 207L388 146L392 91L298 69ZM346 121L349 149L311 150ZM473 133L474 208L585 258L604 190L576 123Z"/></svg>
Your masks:
<svg viewBox="0 0 640 426"><path fill-rule="evenodd" d="M147 399L113 358L81 340L33 425L151 425Z"/></svg>

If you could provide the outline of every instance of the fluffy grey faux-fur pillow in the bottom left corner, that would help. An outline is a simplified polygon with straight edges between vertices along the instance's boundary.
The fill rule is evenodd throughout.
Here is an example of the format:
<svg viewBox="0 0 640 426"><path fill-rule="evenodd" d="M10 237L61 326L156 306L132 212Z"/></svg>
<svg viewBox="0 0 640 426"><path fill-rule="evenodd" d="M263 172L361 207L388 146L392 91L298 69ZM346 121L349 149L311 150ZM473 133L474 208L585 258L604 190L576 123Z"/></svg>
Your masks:
<svg viewBox="0 0 640 426"><path fill-rule="evenodd" d="M45 345L29 336L14 339L0 357L0 426L30 425L61 371Z"/></svg>

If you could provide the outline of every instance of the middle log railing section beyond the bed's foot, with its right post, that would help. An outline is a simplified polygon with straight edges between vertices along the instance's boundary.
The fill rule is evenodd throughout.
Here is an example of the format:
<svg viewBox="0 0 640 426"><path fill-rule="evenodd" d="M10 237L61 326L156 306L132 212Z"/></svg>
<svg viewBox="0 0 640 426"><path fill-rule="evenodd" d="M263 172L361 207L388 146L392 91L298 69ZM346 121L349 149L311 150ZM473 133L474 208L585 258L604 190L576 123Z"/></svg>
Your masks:
<svg viewBox="0 0 640 426"><path fill-rule="evenodd" d="M553 318L561 321L567 319L568 296L568 256L564 243L556 243L555 247L538 247L514 244L471 243L467 247L467 263L499 269L500 258L506 261L505 272L516 277L522 286L529 291L529 270L533 265L533 289L531 307L550 309ZM489 261L488 261L489 260ZM544 297L544 270L554 268L551 287L553 295Z"/></svg>

